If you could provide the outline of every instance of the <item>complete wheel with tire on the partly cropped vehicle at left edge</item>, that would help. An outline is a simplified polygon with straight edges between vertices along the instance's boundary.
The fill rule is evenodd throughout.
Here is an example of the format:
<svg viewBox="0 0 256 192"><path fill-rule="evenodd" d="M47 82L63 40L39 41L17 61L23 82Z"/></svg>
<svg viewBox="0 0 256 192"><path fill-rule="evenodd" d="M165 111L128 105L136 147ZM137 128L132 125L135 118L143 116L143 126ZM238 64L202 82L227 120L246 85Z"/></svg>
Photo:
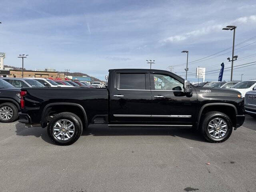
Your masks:
<svg viewBox="0 0 256 192"><path fill-rule="evenodd" d="M10 122L16 121L17 119L18 119L18 108L16 107L16 105L12 103L0 104L0 122L10 123Z"/></svg>

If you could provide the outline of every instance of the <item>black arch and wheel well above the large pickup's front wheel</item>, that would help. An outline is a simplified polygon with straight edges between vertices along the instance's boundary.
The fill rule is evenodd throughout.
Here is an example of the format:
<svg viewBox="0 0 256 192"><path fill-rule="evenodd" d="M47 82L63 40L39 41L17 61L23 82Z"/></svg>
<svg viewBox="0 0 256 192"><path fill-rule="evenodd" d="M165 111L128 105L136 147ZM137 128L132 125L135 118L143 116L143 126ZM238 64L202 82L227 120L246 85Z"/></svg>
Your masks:
<svg viewBox="0 0 256 192"><path fill-rule="evenodd" d="M221 108L222 106L226 106L228 108L223 109L223 108ZM218 108L217 109L214 108L214 110L212 110L212 111L224 112L226 115L230 116L233 125L236 125L236 117L235 116L238 114L236 106L234 106L233 104L230 104L230 103L207 103L207 104L204 104L199 110L196 128L199 128L202 114L204 114L208 111L211 111L211 109L213 109L213 107L218 107ZM228 111L228 109L232 109L232 111L229 111L228 113L226 113Z"/></svg>

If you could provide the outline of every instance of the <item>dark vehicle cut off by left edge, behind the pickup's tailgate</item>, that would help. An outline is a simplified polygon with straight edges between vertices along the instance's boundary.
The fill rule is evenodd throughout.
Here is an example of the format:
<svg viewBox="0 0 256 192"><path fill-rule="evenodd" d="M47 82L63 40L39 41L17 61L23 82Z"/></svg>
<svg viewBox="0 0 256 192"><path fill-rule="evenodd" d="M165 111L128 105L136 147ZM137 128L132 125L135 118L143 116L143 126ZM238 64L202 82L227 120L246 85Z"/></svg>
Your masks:
<svg viewBox="0 0 256 192"><path fill-rule="evenodd" d="M0 78L0 122L9 123L18 119L20 88Z"/></svg>

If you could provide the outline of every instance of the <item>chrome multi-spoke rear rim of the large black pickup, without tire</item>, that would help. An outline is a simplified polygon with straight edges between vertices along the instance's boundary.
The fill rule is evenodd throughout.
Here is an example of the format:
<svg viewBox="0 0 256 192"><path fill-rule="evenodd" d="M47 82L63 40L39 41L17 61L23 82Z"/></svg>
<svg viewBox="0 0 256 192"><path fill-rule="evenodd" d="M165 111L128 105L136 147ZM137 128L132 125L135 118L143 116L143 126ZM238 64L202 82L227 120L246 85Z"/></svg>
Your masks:
<svg viewBox="0 0 256 192"><path fill-rule="evenodd" d="M66 141L75 134L74 124L67 119L58 120L53 126L53 135L56 139Z"/></svg>

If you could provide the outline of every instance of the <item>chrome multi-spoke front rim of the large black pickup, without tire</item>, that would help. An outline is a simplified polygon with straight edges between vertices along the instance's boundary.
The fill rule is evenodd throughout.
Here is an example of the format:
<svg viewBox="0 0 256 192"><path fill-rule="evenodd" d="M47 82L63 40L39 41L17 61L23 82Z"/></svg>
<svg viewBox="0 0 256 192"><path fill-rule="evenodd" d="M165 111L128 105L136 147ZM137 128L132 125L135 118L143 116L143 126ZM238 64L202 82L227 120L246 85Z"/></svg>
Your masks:
<svg viewBox="0 0 256 192"><path fill-rule="evenodd" d="M214 118L209 122L207 126L207 131L211 137L215 139L220 139L226 135L228 131L228 126L224 119Z"/></svg>

